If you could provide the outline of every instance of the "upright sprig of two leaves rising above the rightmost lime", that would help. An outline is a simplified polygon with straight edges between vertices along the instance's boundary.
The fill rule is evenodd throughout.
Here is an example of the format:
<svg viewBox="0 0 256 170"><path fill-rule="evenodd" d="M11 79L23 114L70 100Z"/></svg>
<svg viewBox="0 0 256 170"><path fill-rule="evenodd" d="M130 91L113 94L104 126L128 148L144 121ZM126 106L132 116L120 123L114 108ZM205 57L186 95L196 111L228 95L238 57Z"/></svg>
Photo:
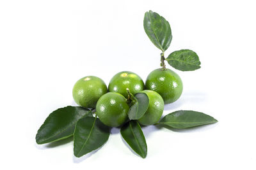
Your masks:
<svg viewBox="0 0 256 170"><path fill-rule="evenodd" d="M164 56L164 52L172 42L172 30L169 22L158 13L148 11L144 17L144 30L152 43L159 48ZM193 71L200 68L198 55L192 50L179 50L170 53L166 59L170 66L180 71Z"/></svg>

